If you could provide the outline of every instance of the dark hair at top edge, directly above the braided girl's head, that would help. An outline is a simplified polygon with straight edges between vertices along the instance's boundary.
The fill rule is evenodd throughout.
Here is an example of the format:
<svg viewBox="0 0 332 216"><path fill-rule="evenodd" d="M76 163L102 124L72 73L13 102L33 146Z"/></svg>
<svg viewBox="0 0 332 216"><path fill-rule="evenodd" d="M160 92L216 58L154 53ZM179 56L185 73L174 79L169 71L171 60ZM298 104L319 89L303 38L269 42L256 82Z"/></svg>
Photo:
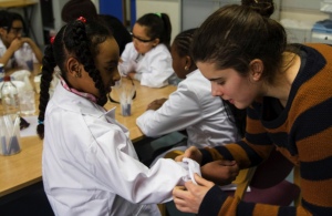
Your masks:
<svg viewBox="0 0 332 216"><path fill-rule="evenodd" d="M70 0L61 10L61 19L64 22L70 22L79 17L84 17L87 20L96 19L97 11L91 0Z"/></svg>

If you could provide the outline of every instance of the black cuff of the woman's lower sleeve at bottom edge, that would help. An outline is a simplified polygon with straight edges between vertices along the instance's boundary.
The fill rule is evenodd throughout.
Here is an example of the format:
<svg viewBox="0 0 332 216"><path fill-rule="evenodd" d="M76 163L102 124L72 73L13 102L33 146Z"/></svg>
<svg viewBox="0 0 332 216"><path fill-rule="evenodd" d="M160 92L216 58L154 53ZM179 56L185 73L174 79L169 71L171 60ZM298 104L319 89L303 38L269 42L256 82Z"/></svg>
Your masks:
<svg viewBox="0 0 332 216"><path fill-rule="evenodd" d="M211 187L205 195L198 210L198 215L218 215L227 195L218 185Z"/></svg>

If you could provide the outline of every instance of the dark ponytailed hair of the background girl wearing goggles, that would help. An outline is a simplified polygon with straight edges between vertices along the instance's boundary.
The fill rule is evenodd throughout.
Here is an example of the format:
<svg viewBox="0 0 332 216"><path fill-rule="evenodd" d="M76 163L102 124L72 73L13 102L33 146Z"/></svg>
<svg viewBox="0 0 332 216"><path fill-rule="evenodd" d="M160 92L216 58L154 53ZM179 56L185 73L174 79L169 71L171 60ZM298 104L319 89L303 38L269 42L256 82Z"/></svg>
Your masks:
<svg viewBox="0 0 332 216"><path fill-rule="evenodd" d="M172 24L166 13L146 13L136 23L146 27L151 39L159 39L168 49L170 47Z"/></svg>

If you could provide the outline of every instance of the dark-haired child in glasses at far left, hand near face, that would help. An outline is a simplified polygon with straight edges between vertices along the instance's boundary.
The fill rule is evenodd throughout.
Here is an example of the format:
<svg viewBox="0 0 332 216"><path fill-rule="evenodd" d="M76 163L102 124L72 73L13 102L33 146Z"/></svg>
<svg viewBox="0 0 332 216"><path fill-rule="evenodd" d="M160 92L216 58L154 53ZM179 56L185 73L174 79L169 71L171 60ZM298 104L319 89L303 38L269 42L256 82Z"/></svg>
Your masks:
<svg viewBox="0 0 332 216"><path fill-rule="evenodd" d="M32 50L33 62L42 61L41 50L32 39L22 37L23 30L24 21L19 13L0 11L0 63L7 69L27 68L25 56L21 50L23 47Z"/></svg>

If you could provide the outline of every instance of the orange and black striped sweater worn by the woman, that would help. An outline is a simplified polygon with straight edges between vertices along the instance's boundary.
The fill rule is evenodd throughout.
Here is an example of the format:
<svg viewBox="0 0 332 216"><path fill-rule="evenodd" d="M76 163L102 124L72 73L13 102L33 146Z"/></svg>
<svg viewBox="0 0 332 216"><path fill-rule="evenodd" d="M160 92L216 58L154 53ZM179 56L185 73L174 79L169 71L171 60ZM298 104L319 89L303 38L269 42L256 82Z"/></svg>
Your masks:
<svg viewBox="0 0 332 216"><path fill-rule="evenodd" d="M277 114L272 109L273 99L263 97L248 109L242 141L200 150L201 165L226 158L236 160L245 168L258 165L277 146L300 166L301 205L240 202L214 186L199 215L332 215L332 47L305 44L301 51L301 68L281 112Z"/></svg>

